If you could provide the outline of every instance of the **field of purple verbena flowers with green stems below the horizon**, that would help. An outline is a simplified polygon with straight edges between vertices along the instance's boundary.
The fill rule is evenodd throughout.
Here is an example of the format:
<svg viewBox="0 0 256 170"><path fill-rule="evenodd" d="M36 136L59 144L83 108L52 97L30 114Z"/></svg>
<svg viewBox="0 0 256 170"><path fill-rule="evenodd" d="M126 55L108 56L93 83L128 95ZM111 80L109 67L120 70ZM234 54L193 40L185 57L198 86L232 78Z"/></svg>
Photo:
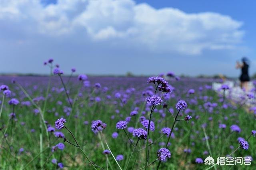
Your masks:
<svg viewBox="0 0 256 170"><path fill-rule="evenodd" d="M219 79L92 77L54 62L37 63L49 76L0 77L0 169L255 169L251 93L234 102L212 89Z"/></svg>

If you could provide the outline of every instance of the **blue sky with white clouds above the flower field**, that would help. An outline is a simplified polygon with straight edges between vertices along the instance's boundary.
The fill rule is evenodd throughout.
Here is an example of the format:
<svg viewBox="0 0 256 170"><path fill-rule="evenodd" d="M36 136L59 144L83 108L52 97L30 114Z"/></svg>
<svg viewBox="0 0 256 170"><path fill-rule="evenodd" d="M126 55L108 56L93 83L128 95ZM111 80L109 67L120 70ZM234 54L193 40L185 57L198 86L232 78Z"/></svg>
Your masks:
<svg viewBox="0 0 256 170"><path fill-rule="evenodd" d="M53 2L53 3L52 3ZM255 1L0 0L0 73L256 73Z"/></svg>

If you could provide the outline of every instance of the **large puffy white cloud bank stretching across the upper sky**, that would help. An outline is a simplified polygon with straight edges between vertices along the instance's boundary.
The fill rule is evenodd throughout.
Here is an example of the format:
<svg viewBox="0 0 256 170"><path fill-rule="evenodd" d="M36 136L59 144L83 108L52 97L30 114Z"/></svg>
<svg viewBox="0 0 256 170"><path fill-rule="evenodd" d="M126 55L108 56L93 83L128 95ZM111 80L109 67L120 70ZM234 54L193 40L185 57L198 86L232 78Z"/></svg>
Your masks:
<svg viewBox="0 0 256 170"><path fill-rule="evenodd" d="M0 0L0 30L16 35L19 42L31 35L70 40L84 35L91 43L198 55L236 47L244 36L242 24L218 13L187 14L132 0L58 0L47 6L39 0Z"/></svg>

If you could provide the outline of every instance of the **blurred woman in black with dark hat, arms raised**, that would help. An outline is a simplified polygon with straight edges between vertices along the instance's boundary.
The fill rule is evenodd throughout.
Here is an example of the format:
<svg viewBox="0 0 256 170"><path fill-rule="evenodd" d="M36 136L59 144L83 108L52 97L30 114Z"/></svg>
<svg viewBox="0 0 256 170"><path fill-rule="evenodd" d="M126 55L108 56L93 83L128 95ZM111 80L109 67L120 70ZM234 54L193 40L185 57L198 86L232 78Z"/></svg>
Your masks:
<svg viewBox="0 0 256 170"><path fill-rule="evenodd" d="M242 63L236 61L236 69L241 68L242 74L240 75L241 88L244 88L246 91L248 90L248 81L250 81L250 77L248 74L249 69L249 60L246 57L242 58Z"/></svg>

